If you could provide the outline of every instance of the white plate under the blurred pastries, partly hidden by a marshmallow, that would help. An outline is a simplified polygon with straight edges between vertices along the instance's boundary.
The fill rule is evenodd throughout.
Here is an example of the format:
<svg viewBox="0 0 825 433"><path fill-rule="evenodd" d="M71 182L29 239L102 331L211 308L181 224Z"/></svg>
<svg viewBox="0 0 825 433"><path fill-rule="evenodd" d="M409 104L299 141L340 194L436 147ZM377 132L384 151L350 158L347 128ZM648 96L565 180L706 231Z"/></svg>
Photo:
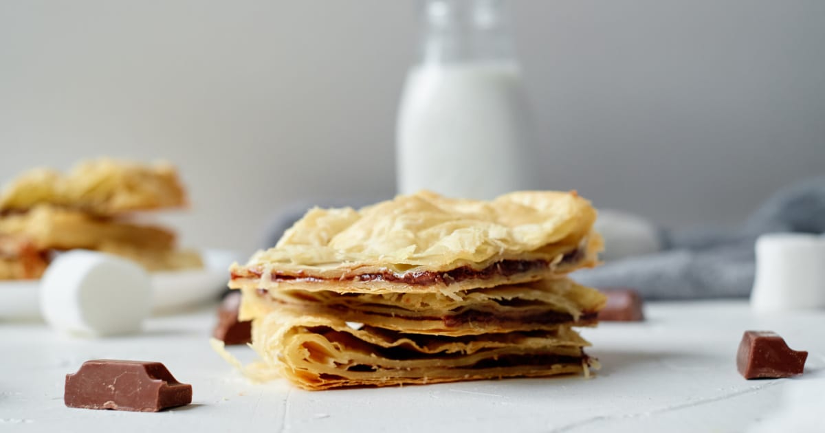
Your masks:
<svg viewBox="0 0 825 433"><path fill-rule="evenodd" d="M151 275L154 313L170 313L217 299L226 289L229 265L238 260L238 254L205 250L201 256L204 259L203 269L154 272ZM39 285L39 280L0 281L0 319L39 318Z"/></svg>

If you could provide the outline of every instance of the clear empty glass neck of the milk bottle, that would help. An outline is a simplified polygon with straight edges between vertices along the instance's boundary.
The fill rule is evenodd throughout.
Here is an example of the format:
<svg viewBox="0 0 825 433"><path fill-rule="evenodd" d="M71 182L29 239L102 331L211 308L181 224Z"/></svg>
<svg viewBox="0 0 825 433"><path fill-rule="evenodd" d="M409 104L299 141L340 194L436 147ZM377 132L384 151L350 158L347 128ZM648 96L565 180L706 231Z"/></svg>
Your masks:
<svg viewBox="0 0 825 433"><path fill-rule="evenodd" d="M505 0L424 2L422 62L515 61Z"/></svg>

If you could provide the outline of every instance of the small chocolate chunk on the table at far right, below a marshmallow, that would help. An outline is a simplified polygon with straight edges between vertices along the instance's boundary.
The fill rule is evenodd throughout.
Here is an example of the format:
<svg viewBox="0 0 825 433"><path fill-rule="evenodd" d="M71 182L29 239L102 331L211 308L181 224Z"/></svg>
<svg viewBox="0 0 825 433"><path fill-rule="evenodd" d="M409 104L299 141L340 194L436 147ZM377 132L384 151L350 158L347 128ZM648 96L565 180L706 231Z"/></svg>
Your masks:
<svg viewBox="0 0 825 433"><path fill-rule="evenodd" d="M787 378L802 374L808 352L793 351L775 332L745 331L736 366L745 379Z"/></svg>

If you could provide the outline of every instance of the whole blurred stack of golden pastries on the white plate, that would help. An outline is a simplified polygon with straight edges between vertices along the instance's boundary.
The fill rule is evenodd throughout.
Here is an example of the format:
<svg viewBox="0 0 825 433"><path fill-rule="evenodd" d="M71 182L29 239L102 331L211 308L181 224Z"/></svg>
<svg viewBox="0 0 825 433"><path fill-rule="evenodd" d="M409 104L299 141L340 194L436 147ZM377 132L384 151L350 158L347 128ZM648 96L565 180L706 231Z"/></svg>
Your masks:
<svg viewBox="0 0 825 433"><path fill-rule="evenodd" d="M175 233L134 221L135 212L177 208L186 195L174 167L98 159L62 174L25 172L0 192L0 280L39 278L54 254L109 252L148 271L201 267Z"/></svg>

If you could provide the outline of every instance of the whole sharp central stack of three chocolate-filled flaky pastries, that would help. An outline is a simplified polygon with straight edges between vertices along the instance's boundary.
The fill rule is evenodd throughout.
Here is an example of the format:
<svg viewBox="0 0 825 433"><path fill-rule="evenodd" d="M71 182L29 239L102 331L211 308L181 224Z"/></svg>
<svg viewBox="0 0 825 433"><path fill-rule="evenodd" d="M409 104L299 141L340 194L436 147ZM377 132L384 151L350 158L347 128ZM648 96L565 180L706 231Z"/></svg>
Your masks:
<svg viewBox="0 0 825 433"><path fill-rule="evenodd" d="M595 219L554 191L312 209L229 285L252 346L301 388L587 375L573 327L606 299L566 275L596 264Z"/></svg>

